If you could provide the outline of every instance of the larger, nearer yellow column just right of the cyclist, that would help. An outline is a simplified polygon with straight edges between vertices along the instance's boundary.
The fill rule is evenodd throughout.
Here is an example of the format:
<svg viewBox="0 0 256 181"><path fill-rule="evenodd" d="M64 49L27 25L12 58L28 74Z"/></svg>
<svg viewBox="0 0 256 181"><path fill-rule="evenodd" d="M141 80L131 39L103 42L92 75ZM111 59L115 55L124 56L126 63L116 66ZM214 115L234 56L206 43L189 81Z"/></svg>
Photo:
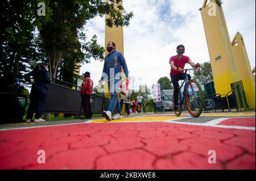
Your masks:
<svg viewBox="0 0 256 181"><path fill-rule="evenodd" d="M201 9L216 92L226 94L230 83L240 81L222 7L215 0L204 1Z"/></svg>

